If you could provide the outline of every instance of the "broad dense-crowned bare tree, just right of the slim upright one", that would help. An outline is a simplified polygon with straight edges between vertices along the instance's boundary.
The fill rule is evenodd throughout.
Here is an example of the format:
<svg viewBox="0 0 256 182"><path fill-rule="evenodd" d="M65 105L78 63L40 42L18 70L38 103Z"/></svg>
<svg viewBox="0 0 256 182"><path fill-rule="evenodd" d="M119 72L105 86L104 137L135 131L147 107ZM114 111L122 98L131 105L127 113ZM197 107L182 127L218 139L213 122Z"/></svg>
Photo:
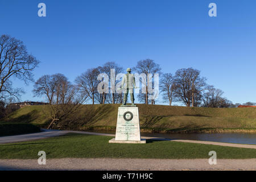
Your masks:
<svg viewBox="0 0 256 182"><path fill-rule="evenodd" d="M193 68L179 69L175 73L175 97L186 106L194 106L195 98L199 98L205 90L205 78L200 77L200 71Z"/></svg>

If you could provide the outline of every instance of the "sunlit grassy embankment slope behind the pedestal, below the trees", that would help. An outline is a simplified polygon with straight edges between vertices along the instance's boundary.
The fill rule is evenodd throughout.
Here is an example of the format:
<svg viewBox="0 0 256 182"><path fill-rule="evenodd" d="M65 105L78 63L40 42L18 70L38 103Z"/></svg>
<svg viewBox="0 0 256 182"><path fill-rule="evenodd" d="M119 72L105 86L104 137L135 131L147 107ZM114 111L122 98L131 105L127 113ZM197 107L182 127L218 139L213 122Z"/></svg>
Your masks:
<svg viewBox="0 0 256 182"><path fill-rule="evenodd" d="M62 130L115 130L119 104L83 105ZM141 131L163 133L256 133L256 108L205 108L164 105L139 107ZM48 106L28 106L9 115L9 122L47 126Z"/></svg>

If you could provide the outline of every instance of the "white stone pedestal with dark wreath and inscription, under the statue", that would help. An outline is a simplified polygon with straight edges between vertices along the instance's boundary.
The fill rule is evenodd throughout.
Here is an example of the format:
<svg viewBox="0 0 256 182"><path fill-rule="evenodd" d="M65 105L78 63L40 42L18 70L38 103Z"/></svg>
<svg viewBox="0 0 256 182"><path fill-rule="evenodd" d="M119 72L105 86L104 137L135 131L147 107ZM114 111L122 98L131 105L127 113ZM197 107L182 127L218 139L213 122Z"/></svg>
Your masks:
<svg viewBox="0 0 256 182"><path fill-rule="evenodd" d="M146 143L146 140L141 140L138 107L135 105L118 107L115 138L109 140L109 143Z"/></svg>

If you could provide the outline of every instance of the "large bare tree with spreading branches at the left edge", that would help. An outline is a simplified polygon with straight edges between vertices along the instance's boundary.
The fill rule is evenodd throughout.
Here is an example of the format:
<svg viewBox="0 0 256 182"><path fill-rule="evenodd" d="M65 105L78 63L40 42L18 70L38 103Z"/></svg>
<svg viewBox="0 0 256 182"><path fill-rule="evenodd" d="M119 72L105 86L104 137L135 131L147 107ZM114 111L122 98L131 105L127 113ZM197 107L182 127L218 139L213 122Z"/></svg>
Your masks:
<svg viewBox="0 0 256 182"><path fill-rule="evenodd" d="M10 78L16 77L26 84L33 81L32 71L39 61L27 52L23 42L9 35L0 36L0 96L19 98L22 89L14 89Z"/></svg>

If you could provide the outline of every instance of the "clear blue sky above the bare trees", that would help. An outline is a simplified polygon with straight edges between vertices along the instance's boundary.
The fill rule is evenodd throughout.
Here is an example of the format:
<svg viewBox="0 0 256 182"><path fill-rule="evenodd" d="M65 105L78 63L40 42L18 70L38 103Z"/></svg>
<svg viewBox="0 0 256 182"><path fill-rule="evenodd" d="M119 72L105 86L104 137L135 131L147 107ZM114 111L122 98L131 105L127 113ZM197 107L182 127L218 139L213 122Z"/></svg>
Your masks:
<svg viewBox="0 0 256 182"><path fill-rule="evenodd" d="M46 17L38 4L46 4ZM209 3L217 17L208 15ZM256 102L256 1L0 0L0 35L20 39L41 61L40 76L74 81L88 68L153 59L164 73L196 68L234 103ZM32 84L13 80L33 98Z"/></svg>

